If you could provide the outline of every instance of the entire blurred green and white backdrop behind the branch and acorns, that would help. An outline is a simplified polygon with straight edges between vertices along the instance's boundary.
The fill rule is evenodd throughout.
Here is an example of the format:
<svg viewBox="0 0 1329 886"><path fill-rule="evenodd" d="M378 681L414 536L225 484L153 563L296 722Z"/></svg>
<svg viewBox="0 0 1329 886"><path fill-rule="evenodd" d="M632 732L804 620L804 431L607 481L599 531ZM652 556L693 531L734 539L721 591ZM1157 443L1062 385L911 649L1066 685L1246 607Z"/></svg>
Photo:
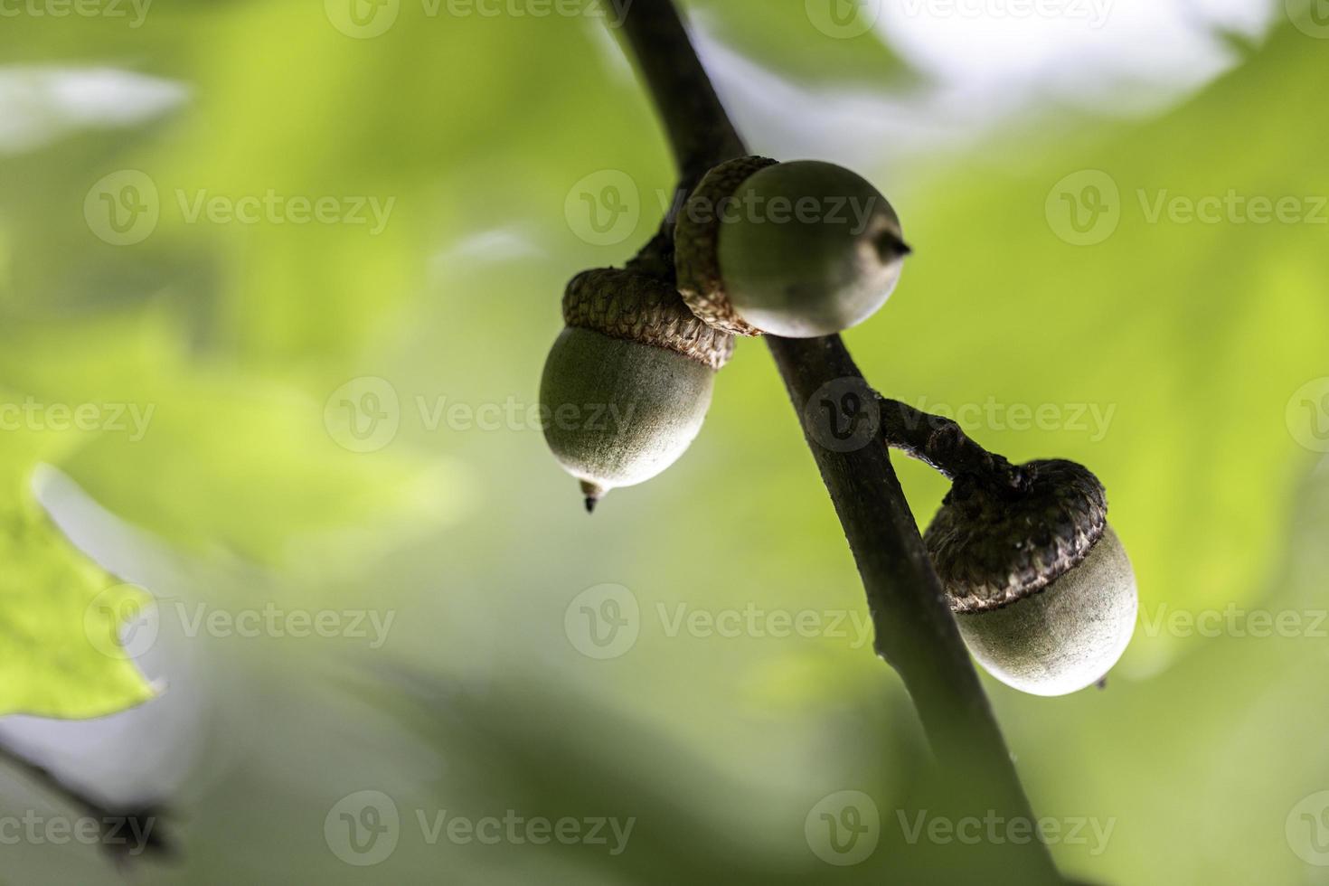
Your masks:
<svg viewBox="0 0 1329 886"><path fill-rule="evenodd" d="M563 283L672 186L621 11L3 7L0 882L929 882L924 743L764 348L593 518L530 412ZM1107 688L985 677L1058 863L1329 882L1329 9L686 11L755 151L904 219L867 376L1107 485L1140 584ZM898 469L926 521L944 481ZM142 689L86 616L126 584L155 697L69 719ZM175 858L53 840L85 813L13 757L161 804ZM864 858L815 828L841 792ZM431 837L509 812L634 825Z"/></svg>

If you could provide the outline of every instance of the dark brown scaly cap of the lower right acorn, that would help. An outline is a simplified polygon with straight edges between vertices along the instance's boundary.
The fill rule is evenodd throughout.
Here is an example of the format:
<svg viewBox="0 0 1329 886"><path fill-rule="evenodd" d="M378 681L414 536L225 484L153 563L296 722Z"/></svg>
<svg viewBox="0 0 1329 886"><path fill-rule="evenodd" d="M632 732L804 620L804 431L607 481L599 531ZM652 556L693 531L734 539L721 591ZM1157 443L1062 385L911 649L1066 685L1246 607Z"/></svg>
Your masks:
<svg viewBox="0 0 1329 886"><path fill-rule="evenodd" d="M1018 489L956 478L924 535L954 612L986 612L1038 594L1103 537L1107 497L1073 461L1021 465Z"/></svg>

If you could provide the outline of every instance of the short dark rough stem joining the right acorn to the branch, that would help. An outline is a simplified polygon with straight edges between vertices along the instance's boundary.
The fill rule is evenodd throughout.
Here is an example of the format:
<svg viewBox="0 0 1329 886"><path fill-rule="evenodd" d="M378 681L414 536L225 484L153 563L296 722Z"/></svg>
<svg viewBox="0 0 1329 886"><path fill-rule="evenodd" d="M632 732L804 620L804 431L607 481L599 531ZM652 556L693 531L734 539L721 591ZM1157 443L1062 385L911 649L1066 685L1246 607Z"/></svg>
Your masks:
<svg viewBox="0 0 1329 886"><path fill-rule="evenodd" d="M1018 490L1023 472L1005 456L989 452L953 418L934 416L906 402L877 395L882 442L917 458L948 480L978 477L997 489Z"/></svg>

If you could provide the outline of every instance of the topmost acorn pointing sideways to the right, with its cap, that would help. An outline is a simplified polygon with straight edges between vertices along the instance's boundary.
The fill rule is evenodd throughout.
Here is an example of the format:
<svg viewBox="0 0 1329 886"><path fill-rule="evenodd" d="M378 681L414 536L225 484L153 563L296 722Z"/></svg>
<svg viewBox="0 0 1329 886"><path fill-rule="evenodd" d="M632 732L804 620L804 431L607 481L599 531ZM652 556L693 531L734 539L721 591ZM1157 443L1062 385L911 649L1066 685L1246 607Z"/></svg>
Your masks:
<svg viewBox="0 0 1329 886"><path fill-rule="evenodd" d="M735 335L812 339L885 304L909 247L865 178L823 161L743 157L712 169L674 228L678 287Z"/></svg>

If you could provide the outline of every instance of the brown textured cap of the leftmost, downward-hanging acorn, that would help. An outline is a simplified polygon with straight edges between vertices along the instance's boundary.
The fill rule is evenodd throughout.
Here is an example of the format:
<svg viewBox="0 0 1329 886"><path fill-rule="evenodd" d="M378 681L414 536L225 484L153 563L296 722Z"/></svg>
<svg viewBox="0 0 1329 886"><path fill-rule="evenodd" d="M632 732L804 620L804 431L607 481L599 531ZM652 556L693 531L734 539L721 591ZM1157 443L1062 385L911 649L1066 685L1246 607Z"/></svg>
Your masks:
<svg viewBox="0 0 1329 886"><path fill-rule="evenodd" d="M563 294L563 323L675 351L711 369L734 353L734 336L698 319L668 283L619 268L574 276Z"/></svg>

